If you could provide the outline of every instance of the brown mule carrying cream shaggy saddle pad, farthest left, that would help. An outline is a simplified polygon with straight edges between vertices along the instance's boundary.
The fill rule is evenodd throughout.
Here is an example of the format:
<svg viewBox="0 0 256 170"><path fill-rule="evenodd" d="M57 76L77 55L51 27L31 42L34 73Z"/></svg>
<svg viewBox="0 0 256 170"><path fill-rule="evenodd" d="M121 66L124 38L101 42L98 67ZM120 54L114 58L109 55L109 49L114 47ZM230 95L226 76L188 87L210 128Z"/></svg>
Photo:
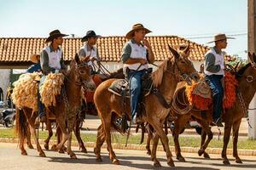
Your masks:
<svg viewBox="0 0 256 170"><path fill-rule="evenodd" d="M61 128L61 133L63 138L61 143L58 144L55 149L60 150L63 144L67 142L67 153L72 157L76 158L75 154L71 150L71 139L72 139L72 128L77 115L77 109L81 105L81 88L95 89L94 82L91 81L90 76L90 65L87 65L87 60L85 58L82 62L79 56L76 54L75 59L71 62L71 69L67 72L65 77L63 93L60 94L57 100L56 106L49 108L55 114L56 122ZM39 156L45 156L38 139L35 128L35 119L38 116L36 112L32 112L30 108L22 107L21 110L16 108L16 133L18 133L20 139L20 150L22 155L27 155L24 149L24 140L29 139L31 131L35 142L37 144L37 149ZM66 124L68 126L66 126Z"/></svg>

